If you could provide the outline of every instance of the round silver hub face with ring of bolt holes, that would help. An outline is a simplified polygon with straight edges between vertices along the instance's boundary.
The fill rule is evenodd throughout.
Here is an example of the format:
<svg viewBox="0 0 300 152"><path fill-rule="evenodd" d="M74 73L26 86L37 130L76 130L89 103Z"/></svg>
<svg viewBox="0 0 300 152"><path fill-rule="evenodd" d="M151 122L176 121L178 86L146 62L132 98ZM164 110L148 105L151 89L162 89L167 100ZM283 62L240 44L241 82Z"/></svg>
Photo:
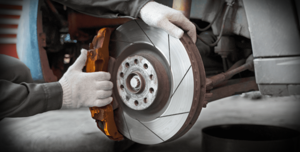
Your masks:
<svg viewBox="0 0 300 152"><path fill-rule="evenodd" d="M158 81L152 64L143 56L127 57L118 69L118 92L131 109L144 110L155 101Z"/></svg>

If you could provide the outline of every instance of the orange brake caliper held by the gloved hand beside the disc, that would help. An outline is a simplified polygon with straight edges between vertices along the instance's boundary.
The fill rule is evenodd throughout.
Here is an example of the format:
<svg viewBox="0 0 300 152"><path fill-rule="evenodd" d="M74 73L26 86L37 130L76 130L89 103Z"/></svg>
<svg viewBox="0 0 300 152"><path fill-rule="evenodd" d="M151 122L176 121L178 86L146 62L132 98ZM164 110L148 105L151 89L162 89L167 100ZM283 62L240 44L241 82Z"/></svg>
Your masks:
<svg viewBox="0 0 300 152"><path fill-rule="evenodd" d="M86 72L108 71L109 51L108 45L110 34L114 28L102 28L90 43L90 50L87 54ZM113 105L108 104L104 107L90 107L91 116L96 120L98 128L112 140L122 140L123 136L119 133L113 115ZM99 125L101 123L102 125ZM103 128L102 128L103 126Z"/></svg>

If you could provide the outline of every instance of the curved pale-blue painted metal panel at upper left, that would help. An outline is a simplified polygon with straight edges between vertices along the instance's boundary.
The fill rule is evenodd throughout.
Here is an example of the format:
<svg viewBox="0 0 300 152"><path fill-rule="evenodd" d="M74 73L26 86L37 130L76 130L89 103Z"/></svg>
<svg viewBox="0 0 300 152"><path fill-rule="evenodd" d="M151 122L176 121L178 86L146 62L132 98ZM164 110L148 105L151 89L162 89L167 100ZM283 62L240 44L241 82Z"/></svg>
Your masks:
<svg viewBox="0 0 300 152"><path fill-rule="evenodd" d="M43 80L37 34L38 0L23 0L17 33L17 54L29 67L33 80Z"/></svg>

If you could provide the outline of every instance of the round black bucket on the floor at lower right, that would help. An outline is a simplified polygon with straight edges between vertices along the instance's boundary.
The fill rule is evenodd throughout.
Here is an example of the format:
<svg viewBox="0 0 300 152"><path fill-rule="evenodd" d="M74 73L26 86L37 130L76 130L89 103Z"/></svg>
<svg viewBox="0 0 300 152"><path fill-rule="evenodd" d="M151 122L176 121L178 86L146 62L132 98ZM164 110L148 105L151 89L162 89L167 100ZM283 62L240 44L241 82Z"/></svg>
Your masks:
<svg viewBox="0 0 300 152"><path fill-rule="evenodd" d="M204 152L299 152L300 133L275 126L228 124L202 129Z"/></svg>

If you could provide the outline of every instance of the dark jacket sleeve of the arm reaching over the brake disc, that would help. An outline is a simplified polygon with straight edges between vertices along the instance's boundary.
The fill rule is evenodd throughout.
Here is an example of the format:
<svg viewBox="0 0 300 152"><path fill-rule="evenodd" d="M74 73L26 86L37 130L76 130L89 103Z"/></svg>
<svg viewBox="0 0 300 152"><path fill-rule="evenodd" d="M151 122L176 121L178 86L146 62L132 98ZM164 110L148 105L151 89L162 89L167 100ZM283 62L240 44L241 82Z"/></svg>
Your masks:
<svg viewBox="0 0 300 152"><path fill-rule="evenodd" d="M152 0L53 0L80 13L101 18L137 18L141 8Z"/></svg>

